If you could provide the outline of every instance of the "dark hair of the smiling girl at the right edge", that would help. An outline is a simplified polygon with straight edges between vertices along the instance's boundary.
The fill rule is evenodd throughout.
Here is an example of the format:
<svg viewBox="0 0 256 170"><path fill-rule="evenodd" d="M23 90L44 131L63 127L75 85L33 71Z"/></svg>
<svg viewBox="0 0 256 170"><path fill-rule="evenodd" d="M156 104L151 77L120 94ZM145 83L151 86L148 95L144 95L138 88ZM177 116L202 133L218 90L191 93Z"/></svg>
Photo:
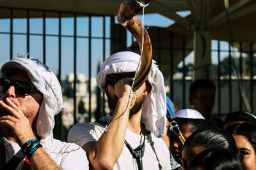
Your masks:
<svg viewBox="0 0 256 170"><path fill-rule="evenodd" d="M252 145L254 151L256 152L256 127L252 124L243 123L243 124L234 124L230 125L226 129L232 135L242 135L248 142Z"/></svg>

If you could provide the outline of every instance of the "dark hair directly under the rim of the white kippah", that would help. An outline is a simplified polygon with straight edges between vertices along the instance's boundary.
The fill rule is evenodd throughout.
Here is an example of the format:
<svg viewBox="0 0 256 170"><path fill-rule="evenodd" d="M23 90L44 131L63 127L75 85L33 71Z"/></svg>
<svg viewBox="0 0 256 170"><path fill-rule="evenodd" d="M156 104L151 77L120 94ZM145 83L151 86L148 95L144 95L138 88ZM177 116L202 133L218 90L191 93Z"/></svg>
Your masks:
<svg viewBox="0 0 256 170"><path fill-rule="evenodd" d="M205 127L205 120L204 119L193 119L193 118L173 118L177 122L178 125L191 125L189 127L189 131L194 132L197 129L200 129L202 127Z"/></svg>

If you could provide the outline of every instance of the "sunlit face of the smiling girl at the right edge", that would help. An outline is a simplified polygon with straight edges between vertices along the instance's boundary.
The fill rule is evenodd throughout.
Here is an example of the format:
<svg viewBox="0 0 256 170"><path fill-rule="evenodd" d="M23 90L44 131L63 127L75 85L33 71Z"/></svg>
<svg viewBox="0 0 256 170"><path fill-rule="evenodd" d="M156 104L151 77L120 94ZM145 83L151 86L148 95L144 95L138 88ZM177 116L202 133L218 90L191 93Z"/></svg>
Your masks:
<svg viewBox="0 0 256 170"><path fill-rule="evenodd" d="M251 143L247 140L245 136L242 135L232 135L236 141L236 146L243 155L243 164L246 166L247 170L256 169L256 155Z"/></svg>

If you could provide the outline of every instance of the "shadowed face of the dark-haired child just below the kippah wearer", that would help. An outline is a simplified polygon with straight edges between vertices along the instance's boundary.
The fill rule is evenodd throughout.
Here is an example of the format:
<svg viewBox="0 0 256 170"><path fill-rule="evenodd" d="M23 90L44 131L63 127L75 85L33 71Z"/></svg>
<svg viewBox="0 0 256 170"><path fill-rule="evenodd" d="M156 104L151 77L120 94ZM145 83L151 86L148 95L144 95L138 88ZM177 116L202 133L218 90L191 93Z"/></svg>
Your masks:
<svg viewBox="0 0 256 170"><path fill-rule="evenodd" d="M194 159L194 157L202 152L203 149L195 146L193 148L190 148L189 146L185 146L182 150L182 166L183 166L183 170L188 169L189 164L191 163L191 161Z"/></svg>

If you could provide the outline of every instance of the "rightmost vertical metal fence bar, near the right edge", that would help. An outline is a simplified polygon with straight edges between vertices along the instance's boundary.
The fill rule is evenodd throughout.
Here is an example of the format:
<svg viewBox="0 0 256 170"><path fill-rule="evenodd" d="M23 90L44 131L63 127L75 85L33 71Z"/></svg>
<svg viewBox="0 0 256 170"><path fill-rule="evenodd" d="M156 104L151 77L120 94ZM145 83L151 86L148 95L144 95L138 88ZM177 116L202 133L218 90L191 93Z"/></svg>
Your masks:
<svg viewBox="0 0 256 170"><path fill-rule="evenodd" d="M253 42L250 43L250 104L253 113Z"/></svg>

